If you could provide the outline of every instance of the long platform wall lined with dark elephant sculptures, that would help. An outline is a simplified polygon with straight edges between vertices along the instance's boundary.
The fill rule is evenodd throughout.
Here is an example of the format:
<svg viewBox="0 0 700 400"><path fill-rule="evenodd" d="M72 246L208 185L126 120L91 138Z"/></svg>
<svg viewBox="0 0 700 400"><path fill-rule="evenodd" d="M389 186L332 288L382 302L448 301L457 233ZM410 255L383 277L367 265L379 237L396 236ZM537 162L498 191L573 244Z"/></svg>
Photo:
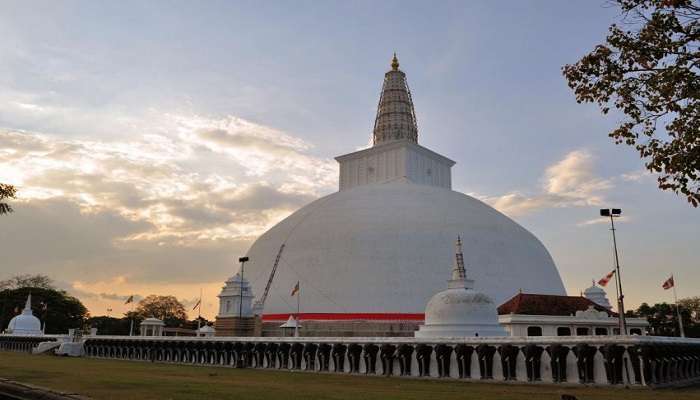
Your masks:
<svg viewBox="0 0 700 400"><path fill-rule="evenodd" d="M0 350L31 352L37 339L1 335ZM685 338L92 336L83 343L87 357L236 368L640 388L700 383L700 339Z"/></svg>

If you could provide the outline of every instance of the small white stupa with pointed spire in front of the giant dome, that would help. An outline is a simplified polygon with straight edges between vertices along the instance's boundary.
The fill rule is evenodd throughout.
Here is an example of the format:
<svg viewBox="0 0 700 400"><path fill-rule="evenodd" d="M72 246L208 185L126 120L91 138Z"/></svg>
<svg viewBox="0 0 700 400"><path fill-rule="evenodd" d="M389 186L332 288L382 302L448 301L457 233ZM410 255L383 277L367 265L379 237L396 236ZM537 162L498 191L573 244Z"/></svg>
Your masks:
<svg viewBox="0 0 700 400"><path fill-rule="evenodd" d="M474 290L467 279L462 240L457 237L452 279L444 290L430 299L425 308L425 325L416 331L418 338L506 336L498 324L496 304L487 295Z"/></svg>

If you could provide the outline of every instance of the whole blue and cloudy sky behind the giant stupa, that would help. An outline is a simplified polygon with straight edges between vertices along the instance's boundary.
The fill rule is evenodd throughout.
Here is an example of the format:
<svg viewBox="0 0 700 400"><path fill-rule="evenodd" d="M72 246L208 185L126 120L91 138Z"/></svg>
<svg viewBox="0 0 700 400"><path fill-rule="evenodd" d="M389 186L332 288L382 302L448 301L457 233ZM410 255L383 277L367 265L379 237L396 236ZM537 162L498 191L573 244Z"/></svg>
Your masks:
<svg viewBox="0 0 700 400"><path fill-rule="evenodd" d="M589 2L27 2L0 7L0 279L44 273L93 315L131 294L216 294L257 235L336 190L396 51L422 145L456 190L537 235L567 290L612 267L629 305L699 295L700 217L660 192L620 117L560 68L618 18Z"/></svg>

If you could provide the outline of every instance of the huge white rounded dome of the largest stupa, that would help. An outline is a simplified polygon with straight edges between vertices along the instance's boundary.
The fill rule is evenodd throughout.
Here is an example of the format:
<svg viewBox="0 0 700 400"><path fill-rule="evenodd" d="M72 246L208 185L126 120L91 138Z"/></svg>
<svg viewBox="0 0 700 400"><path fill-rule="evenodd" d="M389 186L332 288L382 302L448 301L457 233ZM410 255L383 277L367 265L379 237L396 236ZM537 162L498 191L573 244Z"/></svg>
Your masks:
<svg viewBox="0 0 700 400"><path fill-rule="evenodd" d="M535 236L481 201L409 182L355 187L321 198L263 234L247 253L255 293L285 243L264 313L290 313L301 281L305 313L422 313L444 287L452 238L463 235L477 289L495 302L519 289L565 294Z"/></svg>

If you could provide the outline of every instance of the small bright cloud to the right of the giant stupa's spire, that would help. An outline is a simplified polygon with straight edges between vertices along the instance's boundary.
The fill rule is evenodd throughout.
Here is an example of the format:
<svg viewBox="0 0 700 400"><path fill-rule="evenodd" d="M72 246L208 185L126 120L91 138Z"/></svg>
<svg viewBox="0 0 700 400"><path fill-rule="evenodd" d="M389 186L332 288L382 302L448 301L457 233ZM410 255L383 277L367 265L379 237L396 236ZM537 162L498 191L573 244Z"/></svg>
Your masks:
<svg viewBox="0 0 700 400"><path fill-rule="evenodd" d="M539 193L526 195L513 191L501 196L479 197L511 216L546 208L598 206L604 203L605 192L612 188L613 181L595 175L593 160L590 152L575 150L547 167Z"/></svg>

